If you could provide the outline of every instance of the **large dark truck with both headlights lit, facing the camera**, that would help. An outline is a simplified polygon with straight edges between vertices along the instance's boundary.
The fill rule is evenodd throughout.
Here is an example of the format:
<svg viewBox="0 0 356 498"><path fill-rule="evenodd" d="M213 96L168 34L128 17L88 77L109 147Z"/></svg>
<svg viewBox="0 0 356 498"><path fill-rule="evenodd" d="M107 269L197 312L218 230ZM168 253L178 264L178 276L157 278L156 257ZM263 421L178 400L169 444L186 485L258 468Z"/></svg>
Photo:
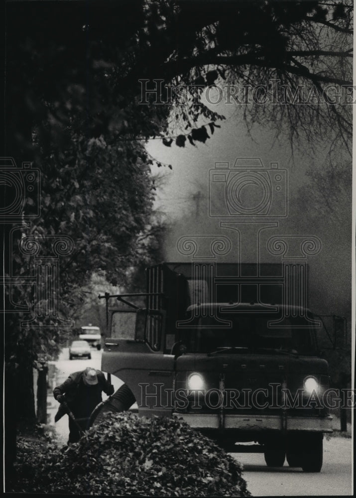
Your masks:
<svg viewBox="0 0 356 498"><path fill-rule="evenodd" d="M140 415L177 416L226 451L320 472L332 432L322 319L295 283L305 266L289 270L166 262L146 268L145 292L99 296L107 306L102 371L123 385L94 420L137 403Z"/></svg>

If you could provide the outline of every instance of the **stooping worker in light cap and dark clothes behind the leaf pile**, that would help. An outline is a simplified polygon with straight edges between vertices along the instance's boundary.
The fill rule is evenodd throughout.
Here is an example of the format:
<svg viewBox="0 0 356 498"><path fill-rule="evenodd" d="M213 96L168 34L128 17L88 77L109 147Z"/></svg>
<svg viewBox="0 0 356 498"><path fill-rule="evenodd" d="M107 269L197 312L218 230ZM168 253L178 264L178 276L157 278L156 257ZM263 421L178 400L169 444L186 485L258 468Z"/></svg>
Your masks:
<svg viewBox="0 0 356 498"><path fill-rule="evenodd" d="M62 384L53 389L54 398L61 403L54 421L58 422L63 415L68 414L68 408L75 417L73 420L68 414L68 444L79 441L81 434L78 425L82 430L88 427L90 414L102 402L103 391L110 396L114 393L114 386L105 378L103 372L90 367L71 373Z"/></svg>

